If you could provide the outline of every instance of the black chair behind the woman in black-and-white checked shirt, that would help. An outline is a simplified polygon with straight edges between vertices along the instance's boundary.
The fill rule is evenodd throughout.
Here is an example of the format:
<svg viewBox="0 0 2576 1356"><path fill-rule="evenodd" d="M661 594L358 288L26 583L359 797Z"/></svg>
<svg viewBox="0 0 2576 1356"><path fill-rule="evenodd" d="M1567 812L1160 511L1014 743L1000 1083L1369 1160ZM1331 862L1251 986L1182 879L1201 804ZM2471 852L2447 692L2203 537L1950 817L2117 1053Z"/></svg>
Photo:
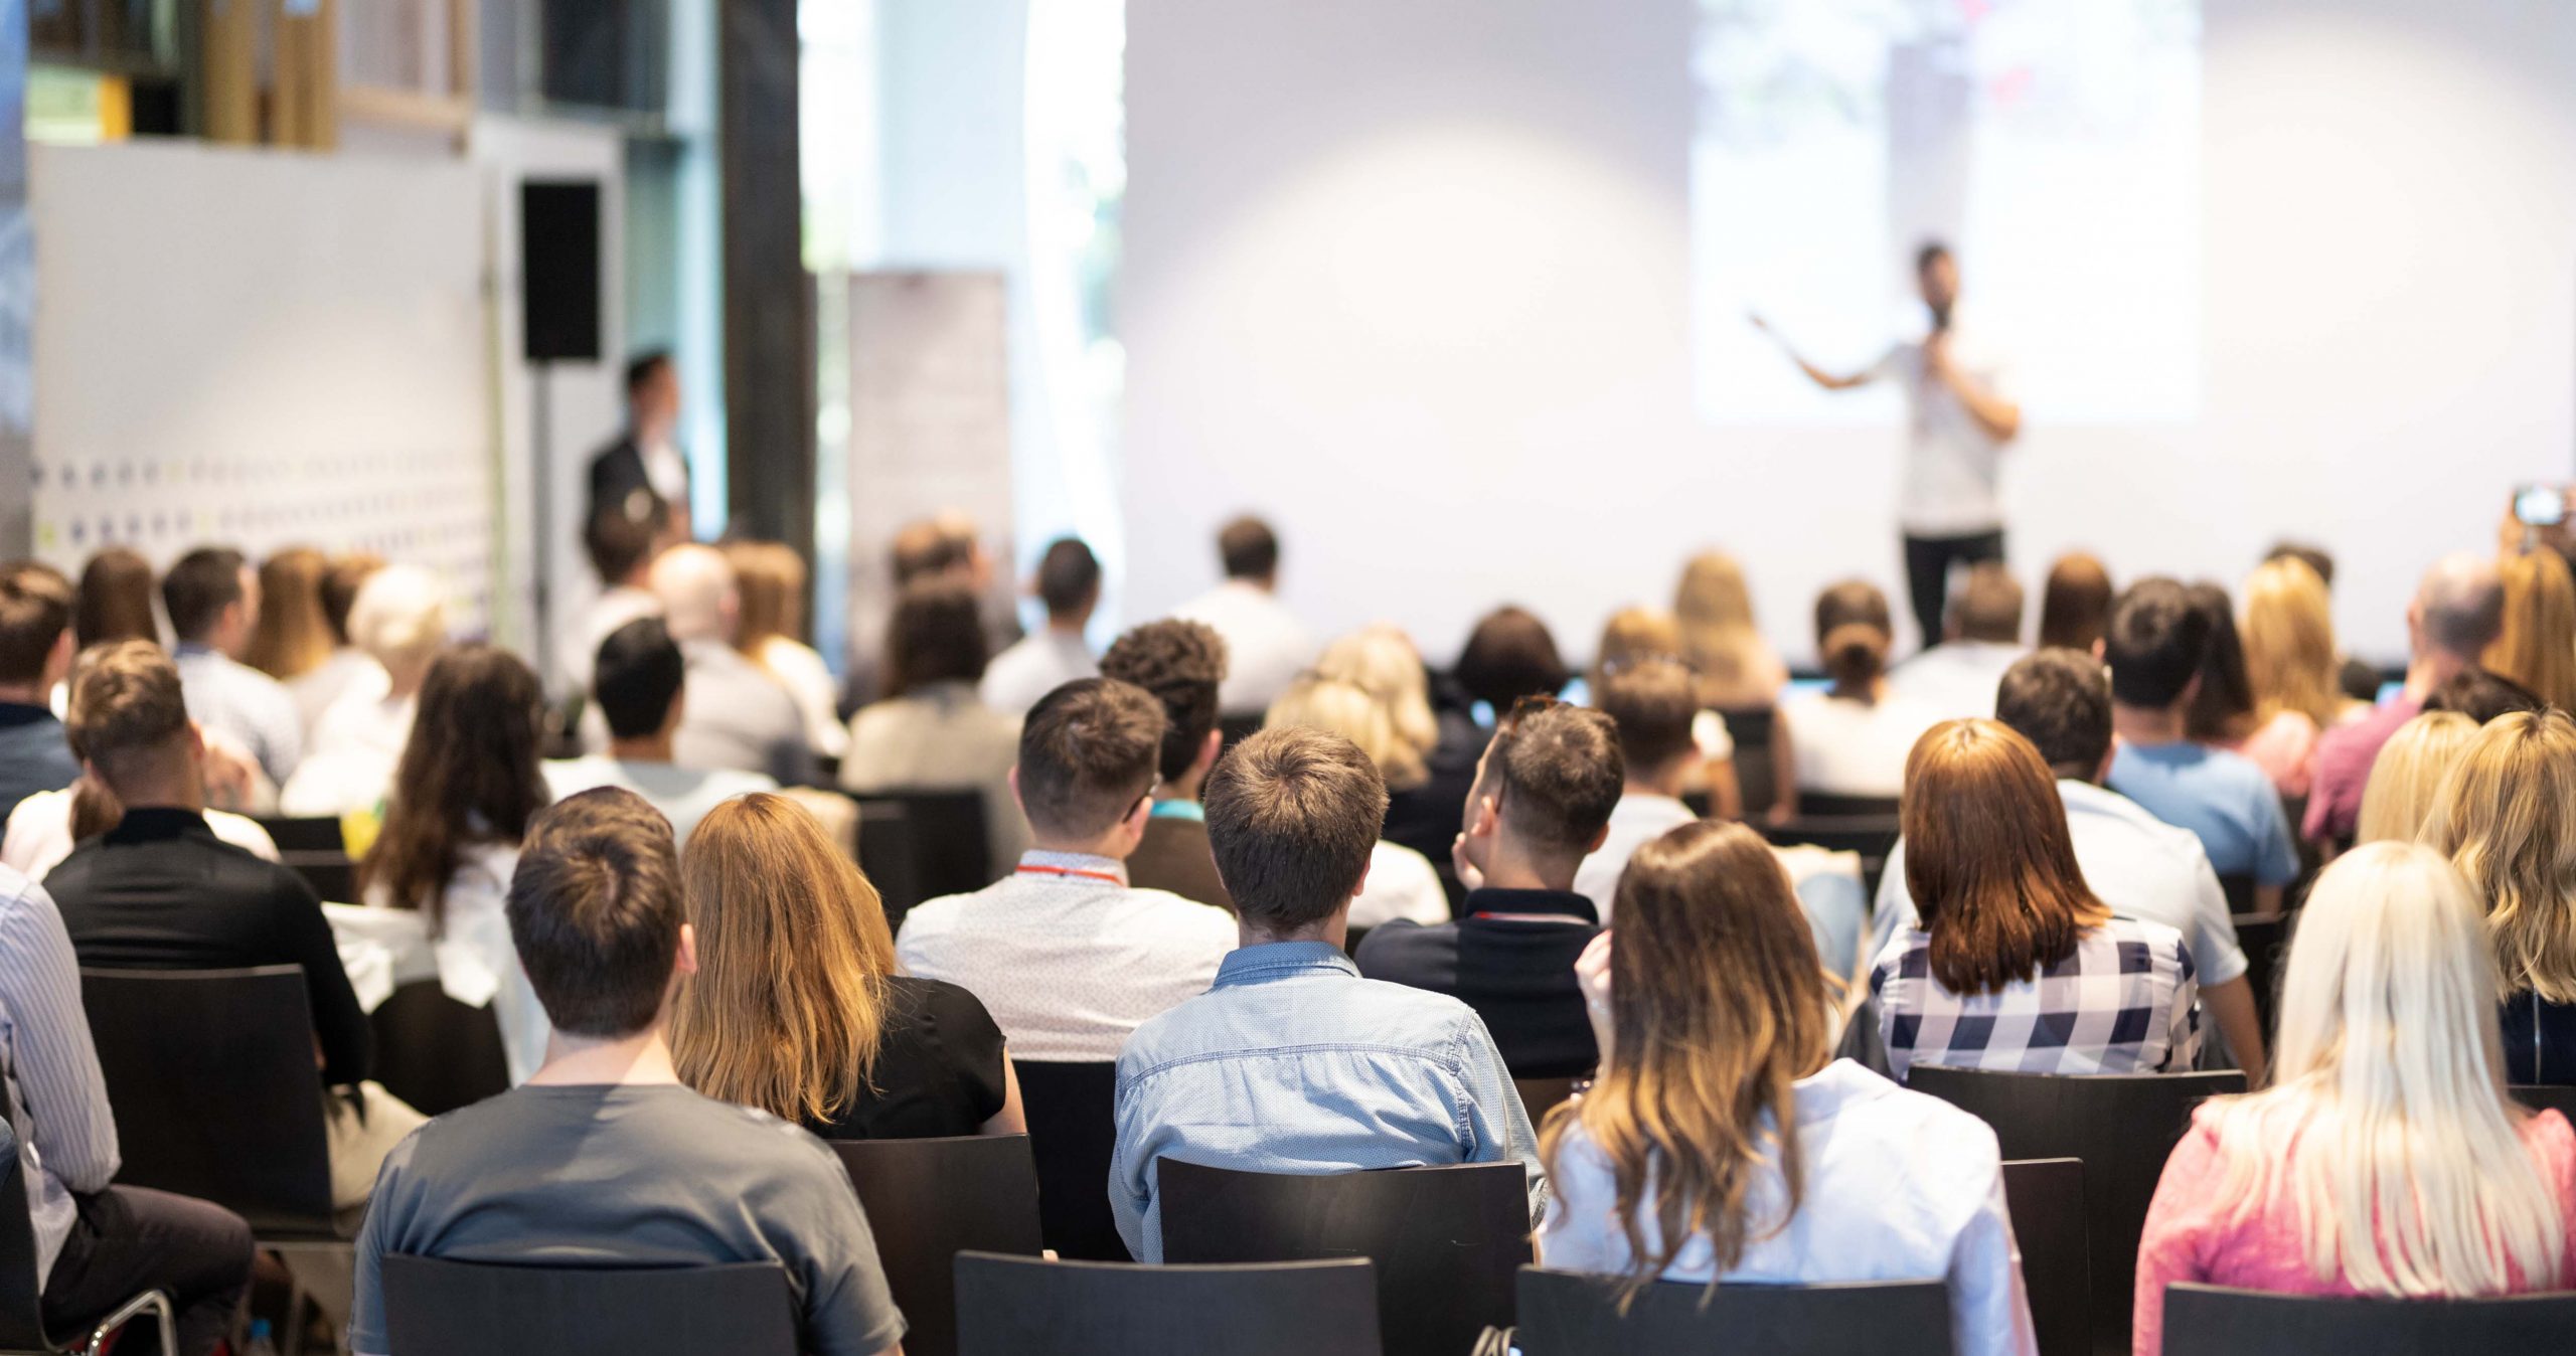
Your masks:
<svg viewBox="0 0 2576 1356"><path fill-rule="evenodd" d="M2156 1199L2164 1160L2182 1142L2192 1106L2241 1094L2246 1076L2128 1073L2066 1078L1914 1065L1906 1086L1973 1112L1994 1127L2004 1158L2081 1158L2094 1351L2128 1351L2138 1279L2138 1230Z"/></svg>

